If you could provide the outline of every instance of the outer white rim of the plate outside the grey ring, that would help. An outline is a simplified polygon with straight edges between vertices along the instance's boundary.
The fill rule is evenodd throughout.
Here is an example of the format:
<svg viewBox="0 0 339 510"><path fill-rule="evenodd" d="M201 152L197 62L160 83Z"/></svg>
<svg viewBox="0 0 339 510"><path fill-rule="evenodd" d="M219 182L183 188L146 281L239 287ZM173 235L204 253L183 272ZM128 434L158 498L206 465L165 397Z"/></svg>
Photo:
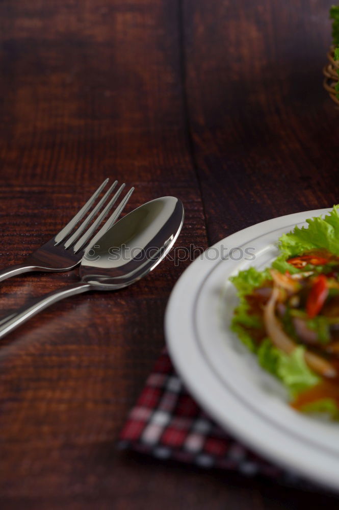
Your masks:
<svg viewBox="0 0 339 510"><path fill-rule="evenodd" d="M331 210L332 208L313 209L309 211L302 211L271 218L269 220L253 224L238 232L226 236L225 238L221 239L210 248L218 248L222 243L225 243L226 241L228 244L231 243L230 245L234 243L234 246L240 246L246 242L249 242L250 238L253 239L254 237L256 239L257 237L260 237L260 235L267 234L268 230L270 230L272 226L274 228L273 229L271 228L271 230L276 230L279 227L285 226L287 227L287 222L288 224L297 224L300 222L304 222L307 218L310 218L312 216L326 214ZM254 236L253 233L255 234ZM248 238L248 236L250 236L250 238ZM241 240L241 243L239 243L238 240ZM204 255L206 254L206 251L210 248L207 248L205 250ZM197 258L182 273L170 295L165 312L165 336L169 354L171 356L171 359L178 374L184 381L184 384L189 389L190 393L202 405L203 409L205 409L211 415L211 417L219 425L221 425L221 427L226 428L226 430L229 430L234 437L238 438L238 440L252 448L254 451L258 452L259 454L263 454L271 462L274 462L275 464L290 471L291 470L295 471L304 477L310 478L312 481L324 484L327 487L331 487L332 489L337 490L339 484L339 474L337 476L328 477L327 473L326 475L324 474L323 476L322 473L319 472L319 469L313 468L311 466L311 463L309 461L305 463L303 462L303 460L300 460L300 458L296 458L295 455L291 455L287 451L281 451L281 448L279 449L276 445L274 448L272 448L270 442L266 441L266 439L264 441L263 439L259 440L256 437L255 433L254 434L245 433L243 428L239 429L238 427L235 426L232 420L229 419L228 415L225 416L225 413L221 410L221 406L219 406L218 408L213 399L210 400L208 398L206 394L207 391L202 388L201 380L198 381L196 379L196 374L194 372L198 368L202 370L202 375L207 377L208 388L210 389L213 388L215 391L218 390L217 388L218 383L216 384L215 381L215 379L217 378L216 374L213 373L213 371L211 372L211 367L206 367L205 361L201 360L199 353L196 352L196 346L194 348L194 342L192 344L192 338L190 338L190 328L187 327L187 322L185 323L184 321L182 321L182 315L185 315L187 308L190 307L192 308L194 306L194 301L196 299L196 291L201 287L202 282L206 278L206 274L213 272L213 267L218 263L220 263L220 259L217 259L216 261L209 261L205 258L205 256L203 258ZM195 276L195 278L193 278L193 276ZM178 298L180 298L180 295L184 290L186 293L185 307L184 308L182 307L181 302L180 308L178 308L177 307ZM188 297L187 290L189 290L190 293ZM181 314L179 320L177 317L178 313ZM174 318L175 320L173 320ZM183 327L183 324L185 324L185 327ZM188 334L188 337L185 337L185 342L184 343L181 342L181 345L178 340L179 338L178 333L180 333L180 329L181 333L184 333L186 335ZM187 365L188 360L196 363L195 369L194 368L192 369L189 365ZM202 378L203 377L201 377L200 379ZM243 414L251 415L251 413L248 410L245 411L246 412ZM239 414L241 415L241 412L239 412ZM258 426L260 426L260 424L257 425L257 427ZM267 433L269 433L270 427L267 427L266 425L266 428L268 428ZM273 436L275 435L277 436L278 434L276 433L275 430L273 430ZM265 435L265 438L266 437L267 436ZM286 440L286 438L284 439ZM287 438L287 440L288 440L287 442L291 442L290 438ZM319 454L319 452L308 451L306 452L306 454L311 456L313 455L316 457L324 457L325 460L327 459L326 454L323 453ZM334 460L333 462L336 463L337 468L339 468L339 462L337 462L337 460Z"/></svg>

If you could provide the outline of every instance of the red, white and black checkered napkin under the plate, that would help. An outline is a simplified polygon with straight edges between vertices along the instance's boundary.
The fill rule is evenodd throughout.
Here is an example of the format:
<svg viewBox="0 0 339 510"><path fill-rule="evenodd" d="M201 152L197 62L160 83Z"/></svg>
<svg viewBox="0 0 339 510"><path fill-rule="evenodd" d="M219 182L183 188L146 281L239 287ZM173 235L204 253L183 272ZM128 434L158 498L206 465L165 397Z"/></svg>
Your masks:
<svg viewBox="0 0 339 510"><path fill-rule="evenodd" d="M205 468L265 475L293 485L301 481L234 440L204 413L185 390L166 350L129 413L118 447Z"/></svg>

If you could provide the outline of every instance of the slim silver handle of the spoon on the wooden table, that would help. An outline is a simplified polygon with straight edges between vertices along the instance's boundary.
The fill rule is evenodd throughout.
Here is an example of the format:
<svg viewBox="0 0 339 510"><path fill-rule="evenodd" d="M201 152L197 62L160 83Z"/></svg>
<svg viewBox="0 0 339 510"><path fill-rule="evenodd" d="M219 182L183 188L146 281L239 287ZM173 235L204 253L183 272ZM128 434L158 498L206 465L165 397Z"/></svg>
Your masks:
<svg viewBox="0 0 339 510"><path fill-rule="evenodd" d="M60 301L69 296L75 296L76 294L81 294L82 292L86 292L90 290L91 284L87 284L85 282L79 282L77 284L66 287L62 290L57 290L53 292L49 292L45 294L43 297L38 297L31 301L29 307L23 306L17 312L5 317L2 321L0 321L0 338L3 338L5 335L10 333L13 329L26 322L28 319L41 312L45 308L49 307L51 304Z"/></svg>

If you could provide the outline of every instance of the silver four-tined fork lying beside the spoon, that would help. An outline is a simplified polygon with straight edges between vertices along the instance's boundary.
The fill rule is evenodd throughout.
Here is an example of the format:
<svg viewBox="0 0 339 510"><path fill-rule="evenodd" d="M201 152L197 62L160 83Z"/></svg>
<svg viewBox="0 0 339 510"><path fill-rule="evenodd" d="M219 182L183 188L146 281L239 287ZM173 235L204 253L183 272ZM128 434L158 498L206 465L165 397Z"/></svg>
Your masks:
<svg viewBox="0 0 339 510"><path fill-rule="evenodd" d="M112 198L113 190L116 188L118 181L115 181L112 186L106 191L105 195L97 202L90 214L77 226L83 219L87 211L94 205L97 197L105 188L109 179L103 181L98 189L93 193L91 198L85 203L84 207L62 228L62 230L46 244L43 244L34 253L32 253L22 264L16 266L9 266L0 271L0 282L16 274L21 274L29 271L42 271L42 272L61 272L69 271L78 264L80 264L84 251L96 242L97 239L105 234L113 223L118 219L122 213L126 203L131 197L134 188L131 188L125 197L121 200L118 207L101 227L99 232L93 237L93 234L99 225L106 218L115 202L119 198L125 184L122 184L116 191ZM101 212L100 212L101 211ZM97 218L95 216L100 212ZM94 221L93 221L94 220ZM93 222L92 222L93 221ZM91 223L92 222L92 223ZM75 228L77 226L77 228Z"/></svg>

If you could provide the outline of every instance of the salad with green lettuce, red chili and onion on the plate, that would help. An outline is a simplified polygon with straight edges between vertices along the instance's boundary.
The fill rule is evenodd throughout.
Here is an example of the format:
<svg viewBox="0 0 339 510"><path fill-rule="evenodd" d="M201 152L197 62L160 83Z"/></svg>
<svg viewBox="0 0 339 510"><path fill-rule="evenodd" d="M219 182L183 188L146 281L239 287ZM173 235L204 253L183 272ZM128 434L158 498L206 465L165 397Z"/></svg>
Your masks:
<svg viewBox="0 0 339 510"><path fill-rule="evenodd" d="M339 206L279 239L270 268L231 277L231 328L294 409L339 419Z"/></svg>

